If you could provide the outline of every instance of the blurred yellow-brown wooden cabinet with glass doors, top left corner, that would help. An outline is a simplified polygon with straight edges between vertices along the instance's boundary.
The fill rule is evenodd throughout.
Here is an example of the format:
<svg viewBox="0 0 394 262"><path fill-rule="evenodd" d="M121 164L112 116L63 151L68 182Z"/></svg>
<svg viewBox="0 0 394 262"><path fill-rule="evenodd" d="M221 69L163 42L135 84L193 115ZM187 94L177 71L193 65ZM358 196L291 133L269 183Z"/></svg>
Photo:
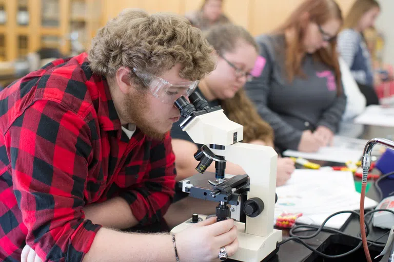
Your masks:
<svg viewBox="0 0 394 262"><path fill-rule="evenodd" d="M86 50L102 23L104 0L0 0L0 60L41 48Z"/></svg>

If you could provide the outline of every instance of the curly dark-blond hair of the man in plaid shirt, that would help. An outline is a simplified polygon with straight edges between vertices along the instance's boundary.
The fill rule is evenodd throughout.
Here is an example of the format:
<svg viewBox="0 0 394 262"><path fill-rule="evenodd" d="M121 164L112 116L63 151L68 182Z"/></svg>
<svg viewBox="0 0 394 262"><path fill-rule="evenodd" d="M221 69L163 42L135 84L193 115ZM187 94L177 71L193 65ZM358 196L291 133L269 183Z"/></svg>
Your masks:
<svg viewBox="0 0 394 262"><path fill-rule="evenodd" d="M186 18L127 9L97 32L88 59L92 71L106 77L114 77L120 67L160 75L181 63L180 77L194 81L213 71L213 53L200 29Z"/></svg>

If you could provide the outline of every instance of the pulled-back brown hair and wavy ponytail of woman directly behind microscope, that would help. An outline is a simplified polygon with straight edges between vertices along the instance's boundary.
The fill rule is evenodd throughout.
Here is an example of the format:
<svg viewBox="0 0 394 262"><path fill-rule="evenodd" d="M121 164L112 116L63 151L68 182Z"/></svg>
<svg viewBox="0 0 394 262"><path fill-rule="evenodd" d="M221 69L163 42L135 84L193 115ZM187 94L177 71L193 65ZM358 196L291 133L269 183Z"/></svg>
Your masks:
<svg viewBox="0 0 394 262"><path fill-rule="evenodd" d="M259 51L253 36L241 26L233 24L215 25L205 33L205 37L218 54L232 52L240 40L245 41ZM243 142L262 140L267 144L272 143L272 128L260 117L244 90L238 91L231 99L222 100L221 106L231 121L244 126Z"/></svg>

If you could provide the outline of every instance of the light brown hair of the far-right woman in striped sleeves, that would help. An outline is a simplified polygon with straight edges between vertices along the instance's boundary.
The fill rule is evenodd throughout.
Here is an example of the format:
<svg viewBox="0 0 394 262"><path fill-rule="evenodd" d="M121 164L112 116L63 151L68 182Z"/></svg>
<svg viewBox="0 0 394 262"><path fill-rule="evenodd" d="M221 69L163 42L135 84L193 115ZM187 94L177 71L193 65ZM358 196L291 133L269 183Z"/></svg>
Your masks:
<svg viewBox="0 0 394 262"><path fill-rule="evenodd" d="M356 28L361 17L374 7L380 8L376 0L357 0L354 2L344 19L343 28Z"/></svg>

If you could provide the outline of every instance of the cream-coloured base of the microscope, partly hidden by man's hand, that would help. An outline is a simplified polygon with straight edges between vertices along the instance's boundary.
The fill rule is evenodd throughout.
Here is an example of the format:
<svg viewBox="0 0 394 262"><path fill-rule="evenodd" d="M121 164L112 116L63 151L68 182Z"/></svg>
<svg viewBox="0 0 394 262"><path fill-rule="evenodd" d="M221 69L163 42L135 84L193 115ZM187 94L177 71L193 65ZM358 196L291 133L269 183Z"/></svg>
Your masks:
<svg viewBox="0 0 394 262"><path fill-rule="evenodd" d="M206 215L199 215L205 220ZM194 225L191 220L174 227L171 233L179 233L180 231ZM238 227L238 251L231 257L231 259L242 262L260 262L268 256L272 256L272 252L277 250L277 243L282 241L282 231L273 229L272 233L266 237L250 235L245 233L245 224L235 222Z"/></svg>

